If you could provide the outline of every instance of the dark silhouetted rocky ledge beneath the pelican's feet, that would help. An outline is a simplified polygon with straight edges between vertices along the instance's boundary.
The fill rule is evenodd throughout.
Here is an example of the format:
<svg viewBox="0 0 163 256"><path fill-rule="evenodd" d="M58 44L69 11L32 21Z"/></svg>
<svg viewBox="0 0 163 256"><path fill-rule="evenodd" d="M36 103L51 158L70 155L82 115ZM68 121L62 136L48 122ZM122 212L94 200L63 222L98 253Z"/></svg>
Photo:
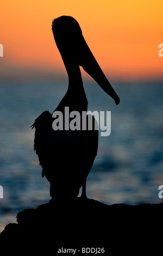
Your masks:
<svg viewBox="0 0 163 256"><path fill-rule="evenodd" d="M53 255L109 255L112 250L111 255L156 253L162 248L162 216L163 203L133 206L82 198L52 199L36 209L18 212L17 223L2 231L0 248L14 255L27 251L32 255L35 251L37 255L43 251ZM86 247L97 249L86 253L82 251ZM64 251L68 248L76 248L76 252Z"/></svg>

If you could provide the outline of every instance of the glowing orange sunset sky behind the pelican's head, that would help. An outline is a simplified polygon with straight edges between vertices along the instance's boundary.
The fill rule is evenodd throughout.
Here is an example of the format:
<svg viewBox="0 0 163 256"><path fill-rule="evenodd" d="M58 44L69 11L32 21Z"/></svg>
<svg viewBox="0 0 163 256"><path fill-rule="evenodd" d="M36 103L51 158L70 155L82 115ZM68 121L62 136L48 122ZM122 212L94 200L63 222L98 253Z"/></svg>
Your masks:
<svg viewBox="0 0 163 256"><path fill-rule="evenodd" d="M162 0L1 1L0 76L12 79L21 76L21 70L66 74L51 23L55 17L70 15L79 22L109 80L159 80L162 10Z"/></svg>

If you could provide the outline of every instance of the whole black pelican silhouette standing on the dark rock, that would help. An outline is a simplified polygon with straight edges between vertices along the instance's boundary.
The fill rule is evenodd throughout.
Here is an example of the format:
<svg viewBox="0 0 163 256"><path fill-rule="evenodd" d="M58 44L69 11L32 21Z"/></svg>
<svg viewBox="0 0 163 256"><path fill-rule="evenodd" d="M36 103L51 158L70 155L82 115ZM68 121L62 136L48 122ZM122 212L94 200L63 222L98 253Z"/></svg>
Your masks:
<svg viewBox="0 0 163 256"><path fill-rule="evenodd" d="M68 74L67 92L55 111L62 112L63 116L65 107L69 107L70 112L87 111L87 99L79 66L82 66L118 105L120 99L93 57L78 22L71 16L58 17L52 22L52 31ZM35 127L34 150L42 166L42 177L45 175L51 184L51 197L77 197L82 187L82 197L86 198L86 178L98 148L95 123L91 131L54 131L53 121L52 114L45 111L32 125L32 129ZM95 119L94 121L96 122Z"/></svg>

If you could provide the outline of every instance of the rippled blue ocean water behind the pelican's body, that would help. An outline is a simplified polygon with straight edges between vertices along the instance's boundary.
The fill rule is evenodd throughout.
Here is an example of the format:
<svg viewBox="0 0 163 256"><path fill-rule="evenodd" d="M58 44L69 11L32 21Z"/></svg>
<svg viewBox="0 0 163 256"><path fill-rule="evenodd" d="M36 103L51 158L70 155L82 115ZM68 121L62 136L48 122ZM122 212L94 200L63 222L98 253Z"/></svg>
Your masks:
<svg viewBox="0 0 163 256"><path fill-rule="evenodd" d="M163 185L163 83L112 84L120 105L96 83L85 82L91 111L111 111L111 134L99 135L98 155L87 178L87 196L106 204L161 203ZM0 232L18 211L48 202L49 182L33 150L33 124L54 111L67 83L2 83L0 86ZM64 199L65 200L65 199Z"/></svg>

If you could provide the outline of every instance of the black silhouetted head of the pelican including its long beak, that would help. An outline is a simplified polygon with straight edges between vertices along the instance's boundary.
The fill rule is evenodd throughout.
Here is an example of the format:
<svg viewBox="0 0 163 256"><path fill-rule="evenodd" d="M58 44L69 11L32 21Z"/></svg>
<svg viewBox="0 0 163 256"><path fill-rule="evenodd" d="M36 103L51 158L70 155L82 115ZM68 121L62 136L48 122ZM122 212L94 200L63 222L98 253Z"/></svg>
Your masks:
<svg viewBox="0 0 163 256"><path fill-rule="evenodd" d="M120 99L87 46L79 23L71 16L60 16L53 20L52 31L66 70L68 66L82 66L118 105Z"/></svg>

